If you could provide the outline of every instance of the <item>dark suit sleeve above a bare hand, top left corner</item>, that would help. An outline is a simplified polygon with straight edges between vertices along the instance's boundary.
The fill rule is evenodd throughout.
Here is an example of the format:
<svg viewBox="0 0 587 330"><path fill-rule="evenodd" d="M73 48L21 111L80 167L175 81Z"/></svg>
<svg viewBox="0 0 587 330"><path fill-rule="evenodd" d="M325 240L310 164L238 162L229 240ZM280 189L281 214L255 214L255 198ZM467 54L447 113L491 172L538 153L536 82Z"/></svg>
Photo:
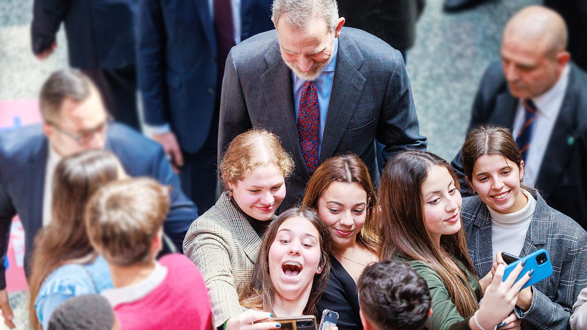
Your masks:
<svg viewBox="0 0 587 330"><path fill-rule="evenodd" d="M69 2L70 0L34 0L31 42L35 55L55 42L59 25L68 13Z"/></svg>

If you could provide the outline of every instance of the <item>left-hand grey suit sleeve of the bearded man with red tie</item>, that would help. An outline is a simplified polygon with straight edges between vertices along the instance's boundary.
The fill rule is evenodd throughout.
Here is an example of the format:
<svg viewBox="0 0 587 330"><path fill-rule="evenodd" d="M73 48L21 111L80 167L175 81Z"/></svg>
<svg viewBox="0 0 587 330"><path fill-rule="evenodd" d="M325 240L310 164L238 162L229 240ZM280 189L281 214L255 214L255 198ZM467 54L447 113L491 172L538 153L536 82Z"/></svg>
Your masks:
<svg viewBox="0 0 587 330"><path fill-rule="evenodd" d="M220 97L220 122L218 126L218 164L228 143L238 134L252 127L249 118L241 81L238 78L234 60L234 48L228 53L222 79L222 95Z"/></svg>

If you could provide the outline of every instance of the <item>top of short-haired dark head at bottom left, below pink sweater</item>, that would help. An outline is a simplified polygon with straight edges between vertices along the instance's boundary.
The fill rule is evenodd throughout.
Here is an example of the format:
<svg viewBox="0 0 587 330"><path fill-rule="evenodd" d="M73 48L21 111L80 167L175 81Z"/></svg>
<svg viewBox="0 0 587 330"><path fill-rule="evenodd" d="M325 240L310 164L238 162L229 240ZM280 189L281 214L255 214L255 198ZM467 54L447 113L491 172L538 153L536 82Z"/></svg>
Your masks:
<svg viewBox="0 0 587 330"><path fill-rule="evenodd" d="M48 330L110 330L120 329L108 300L101 295L73 297L51 314Z"/></svg>

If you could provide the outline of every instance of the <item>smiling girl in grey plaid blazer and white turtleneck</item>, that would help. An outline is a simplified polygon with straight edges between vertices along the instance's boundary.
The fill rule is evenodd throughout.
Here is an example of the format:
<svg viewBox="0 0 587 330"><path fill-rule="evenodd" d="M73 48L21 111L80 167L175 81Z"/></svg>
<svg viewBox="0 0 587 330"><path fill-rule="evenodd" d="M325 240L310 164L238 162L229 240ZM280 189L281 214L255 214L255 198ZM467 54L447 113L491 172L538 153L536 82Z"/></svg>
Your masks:
<svg viewBox="0 0 587 330"><path fill-rule="evenodd" d="M501 251L524 257L544 248L554 272L522 290L514 312L522 329L569 329L571 307L587 287L587 233L522 185L524 161L510 131L473 130L463 145L463 168L478 194L463 200L468 252L478 274L490 272L481 287L502 262Z"/></svg>

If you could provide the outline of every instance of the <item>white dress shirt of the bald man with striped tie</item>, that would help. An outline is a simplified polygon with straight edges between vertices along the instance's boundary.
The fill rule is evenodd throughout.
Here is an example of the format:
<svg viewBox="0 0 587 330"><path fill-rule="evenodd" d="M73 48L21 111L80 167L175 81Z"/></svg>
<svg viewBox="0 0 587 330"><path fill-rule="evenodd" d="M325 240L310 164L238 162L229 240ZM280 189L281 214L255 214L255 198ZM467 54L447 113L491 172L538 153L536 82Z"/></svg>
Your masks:
<svg viewBox="0 0 587 330"><path fill-rule="evenodd" d="M562 102L565 98L566 86L569 83L569 65L565 66L561 77L551 89L547 90L540 96L532 97L538 111L534 117L534 128L528 154L524 161L524 184L534 187L538 179L538 171L544 159L544 153L550 140L552 130L558 119L558 113L561 111ZM514 120L514 139L518 137L518 132L524 124L525 115L522 100L518 102L518 109Z"/></svg>

